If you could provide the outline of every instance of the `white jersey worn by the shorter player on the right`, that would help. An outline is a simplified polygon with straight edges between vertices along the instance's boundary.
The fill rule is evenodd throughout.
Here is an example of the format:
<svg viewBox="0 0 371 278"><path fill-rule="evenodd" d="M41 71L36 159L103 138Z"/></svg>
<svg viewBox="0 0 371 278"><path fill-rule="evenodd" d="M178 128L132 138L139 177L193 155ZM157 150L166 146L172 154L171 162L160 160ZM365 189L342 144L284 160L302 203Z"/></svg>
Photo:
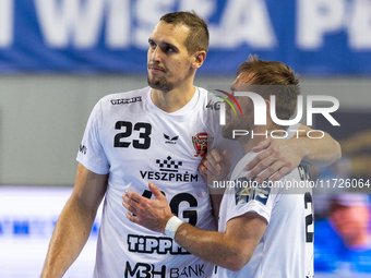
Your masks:
<svg viewBox="0 0 371 278"><path fill-rule="evenodd" d="M248 171L243 168L256 155L256 153L247 154L231 174L231 181L235 181L236 186L229 185L223 196L219 232L225 232L230 219L248 211L258 213L268 225L250 262L241 270L234 273L216 267L213 277L312 278L314 230L311 190L306 190L308 192L304 194L292 194L274 186L246 189L251 183L247 180ZM277 184L308 179L308 166L299 165Z"/></svg>

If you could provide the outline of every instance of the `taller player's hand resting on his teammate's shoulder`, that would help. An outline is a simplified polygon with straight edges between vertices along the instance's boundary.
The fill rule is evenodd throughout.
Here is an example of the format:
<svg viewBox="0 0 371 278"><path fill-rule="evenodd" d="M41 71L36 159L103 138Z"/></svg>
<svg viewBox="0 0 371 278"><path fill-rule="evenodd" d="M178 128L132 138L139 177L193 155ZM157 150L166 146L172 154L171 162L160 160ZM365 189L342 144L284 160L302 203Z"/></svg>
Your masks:
<svg viewBox="0 0 371 278"><path fill-rule="evenodd" d="M270 181L275 182L292 171L303 157L300 144L297 143L292 140L273 138L260 142L252 150L264 150L246 166L246 170L250 170L247 178L251 180L265 169L255 181L261 183L273 174Z"/></svg>

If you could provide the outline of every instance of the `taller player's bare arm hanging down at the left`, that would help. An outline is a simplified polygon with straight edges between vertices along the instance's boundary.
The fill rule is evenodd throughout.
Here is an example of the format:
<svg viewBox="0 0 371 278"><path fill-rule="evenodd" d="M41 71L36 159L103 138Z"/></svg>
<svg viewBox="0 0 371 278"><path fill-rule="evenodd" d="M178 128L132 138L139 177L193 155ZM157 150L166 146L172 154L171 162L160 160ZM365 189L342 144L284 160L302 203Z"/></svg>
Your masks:
<svg viewBox="0 0 371 278"><path fill-rule="evenodd" d="M62 277L81 253L106 193L107 178L79 164L76 182L57 221L41 277Z"/></svg>

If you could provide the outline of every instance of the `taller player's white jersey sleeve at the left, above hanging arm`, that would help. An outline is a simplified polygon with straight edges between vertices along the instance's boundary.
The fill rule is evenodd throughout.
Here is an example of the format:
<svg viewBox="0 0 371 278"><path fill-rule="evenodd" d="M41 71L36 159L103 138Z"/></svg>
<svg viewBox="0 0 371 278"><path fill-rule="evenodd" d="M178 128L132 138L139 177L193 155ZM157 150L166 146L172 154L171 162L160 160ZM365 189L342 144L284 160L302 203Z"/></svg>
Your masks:
<svg viewBox="0 0 371 278"><path fill-rule="evenodd" d="M88 118L76 160L95 173L106 174L109 172L109 162L101 145L100 125L101 101L94 107Z"/></svg>

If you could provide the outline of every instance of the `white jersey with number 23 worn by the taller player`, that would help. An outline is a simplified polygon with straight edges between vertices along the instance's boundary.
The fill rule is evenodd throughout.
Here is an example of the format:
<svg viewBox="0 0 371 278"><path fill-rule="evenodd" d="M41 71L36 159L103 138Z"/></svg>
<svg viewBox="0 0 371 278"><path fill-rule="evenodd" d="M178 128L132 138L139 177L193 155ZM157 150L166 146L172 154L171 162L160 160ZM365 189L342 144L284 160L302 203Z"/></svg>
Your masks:
<svg viewBox="0 0 371 278"><path fill-rule="evenodd" d="M153 181L180 219L215 230L198 167L207 144L224 141L215 142L207 128L206 105L207 92L196 88L184 107L167 113L153 104L146 87L108 95L93 109L77 161L95 173L109 173L94 277L212 276L213 265L170 238L129 221L121 198L129 189L154 198L147 185Z"/></svg>

